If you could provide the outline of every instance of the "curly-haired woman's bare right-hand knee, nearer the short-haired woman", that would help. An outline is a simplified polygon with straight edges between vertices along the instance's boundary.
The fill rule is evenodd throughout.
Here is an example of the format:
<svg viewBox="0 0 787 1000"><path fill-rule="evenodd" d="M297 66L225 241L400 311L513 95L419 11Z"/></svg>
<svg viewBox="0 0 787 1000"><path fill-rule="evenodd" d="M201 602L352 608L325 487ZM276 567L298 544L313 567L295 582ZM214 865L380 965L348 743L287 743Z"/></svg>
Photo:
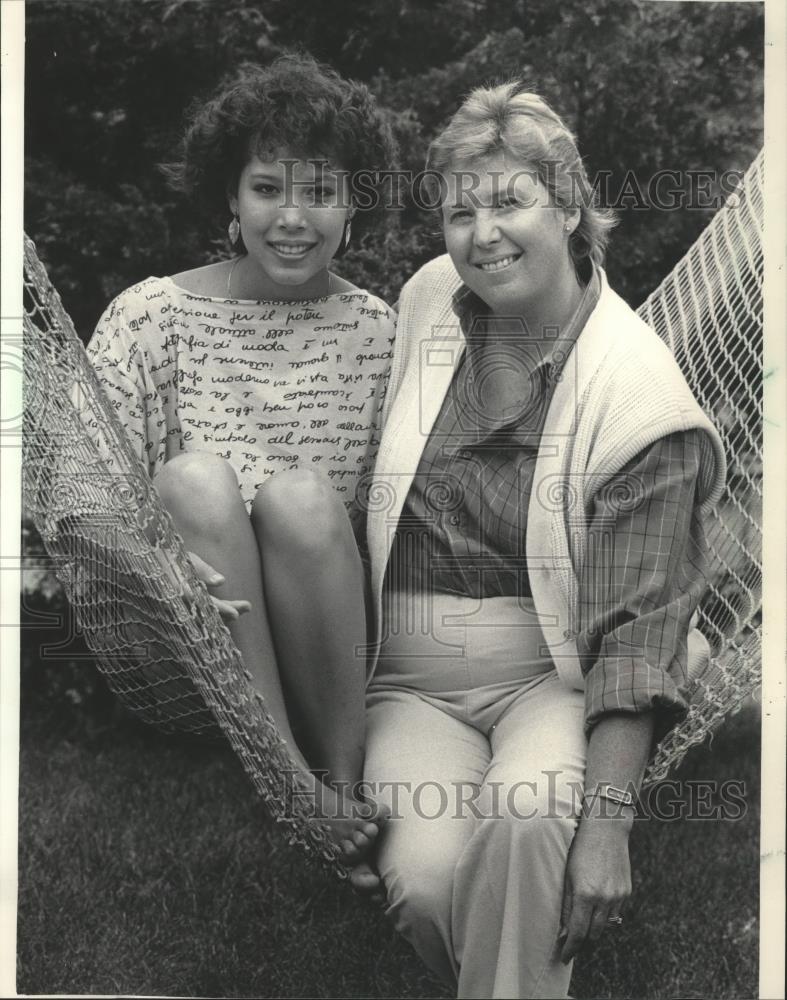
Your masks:
<svg viewBox="0 0 787 1000"><path fill-rule="evenodd" d="M314 558L347 538L349 519L328 479L311 469L280 472L260 487L251 508L255 530L269 542L308 550Z"/></svg>

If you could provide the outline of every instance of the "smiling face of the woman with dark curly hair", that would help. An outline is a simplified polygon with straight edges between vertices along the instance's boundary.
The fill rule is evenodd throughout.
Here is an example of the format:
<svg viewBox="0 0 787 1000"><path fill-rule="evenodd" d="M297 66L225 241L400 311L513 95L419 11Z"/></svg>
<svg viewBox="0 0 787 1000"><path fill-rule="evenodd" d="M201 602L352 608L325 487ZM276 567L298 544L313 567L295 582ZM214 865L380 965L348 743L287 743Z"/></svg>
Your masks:
<svg viewBox="0 0 787 1000"><path fill-rule="evenodd" d="M349 208L346 175L282 152L275 159L254 155L230 198L247 266L239 276L249 297L289 299L324 295L328 265L342 240Z"/></svg>

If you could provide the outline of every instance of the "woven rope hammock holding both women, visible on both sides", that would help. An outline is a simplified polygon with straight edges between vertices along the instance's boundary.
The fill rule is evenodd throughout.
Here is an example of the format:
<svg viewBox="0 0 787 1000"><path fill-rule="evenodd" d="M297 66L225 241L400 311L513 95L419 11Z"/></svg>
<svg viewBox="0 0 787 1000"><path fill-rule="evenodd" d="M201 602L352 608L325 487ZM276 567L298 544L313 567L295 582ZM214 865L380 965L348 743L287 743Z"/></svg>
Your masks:
<svg viewBox="0 0 787 1000"><path fill-rule="evenodd" d="M711 660L689 682L688 715L658 746L647 782L663 779L760 681L762 185L760 153L639 309L715 422L729 464L706 523L699 626ZM162 730L226 737L290 842L346 874L27 238L24 281L24 504L110 688Z"/></svg>

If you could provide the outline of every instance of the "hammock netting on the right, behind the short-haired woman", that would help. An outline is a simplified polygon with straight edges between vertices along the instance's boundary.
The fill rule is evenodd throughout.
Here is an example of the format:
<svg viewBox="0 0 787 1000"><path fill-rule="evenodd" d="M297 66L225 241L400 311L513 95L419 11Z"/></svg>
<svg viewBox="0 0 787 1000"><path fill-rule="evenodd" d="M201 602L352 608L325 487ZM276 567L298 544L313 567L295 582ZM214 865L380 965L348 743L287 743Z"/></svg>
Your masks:
<svg viewBox="0 0 787 1000"><path fill-rule="evenodd" d="M659 780L761 680L762 229L764 157L638 312L667 342L727 456L705 524L709 587L699 628L711 661L688 688L686 719L659 745Z"/></svg>

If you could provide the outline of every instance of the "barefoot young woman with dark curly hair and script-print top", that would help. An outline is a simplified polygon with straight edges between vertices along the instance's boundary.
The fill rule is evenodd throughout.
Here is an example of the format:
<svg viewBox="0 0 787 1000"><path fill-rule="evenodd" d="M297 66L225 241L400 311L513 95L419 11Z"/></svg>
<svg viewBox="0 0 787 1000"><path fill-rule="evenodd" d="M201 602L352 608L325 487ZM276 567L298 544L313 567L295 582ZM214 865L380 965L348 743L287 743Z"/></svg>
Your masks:
<svg viewBox="0 0 787 1000"><path fill-rule="evenodd" d="M356 211L361 172L368 195L394 152L365 87L297 55L243 66L196 109L169 167L229 223L234 256L129 288L89 346L296 763L350 786L366 670L352 501L393 316L330 265L373 214ZM360 862L378 822L315 794Z"/></svg>

